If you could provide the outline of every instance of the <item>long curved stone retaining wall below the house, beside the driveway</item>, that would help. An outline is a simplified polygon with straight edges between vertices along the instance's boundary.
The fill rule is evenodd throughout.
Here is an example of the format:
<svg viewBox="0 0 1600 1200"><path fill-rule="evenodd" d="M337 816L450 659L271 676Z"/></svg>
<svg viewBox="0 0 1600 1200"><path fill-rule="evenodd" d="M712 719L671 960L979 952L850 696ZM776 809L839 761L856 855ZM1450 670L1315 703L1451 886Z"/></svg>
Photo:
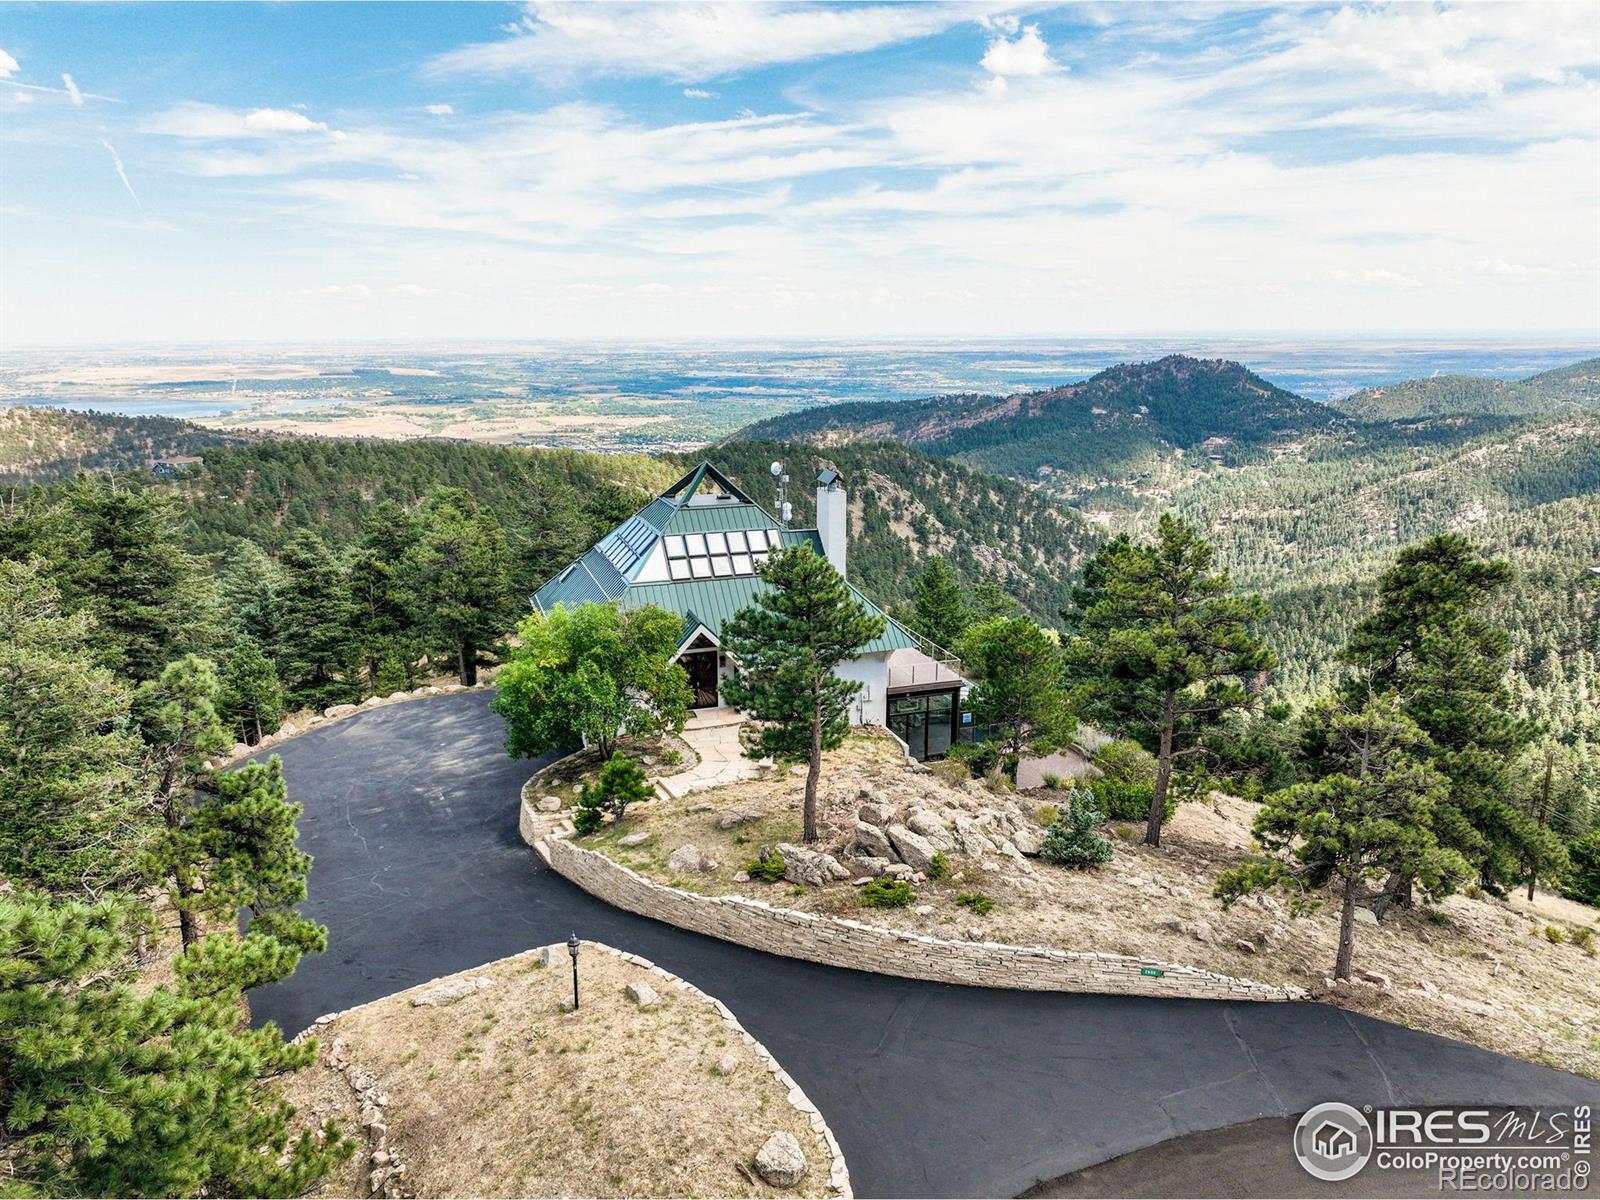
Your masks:
<svg viewBox="0 0 1600 1200"><path fill-rule="evenodd" d="M560 875L619 909L749 946L856 971L1026 992L1110 992L1198 1000L1304 1000L1299 987L1235 979L1195 966L1120 954L1003 942L954 942L843 917L779 909L744 896L696 896L646 880L557 830L534 850Z"/></svg>

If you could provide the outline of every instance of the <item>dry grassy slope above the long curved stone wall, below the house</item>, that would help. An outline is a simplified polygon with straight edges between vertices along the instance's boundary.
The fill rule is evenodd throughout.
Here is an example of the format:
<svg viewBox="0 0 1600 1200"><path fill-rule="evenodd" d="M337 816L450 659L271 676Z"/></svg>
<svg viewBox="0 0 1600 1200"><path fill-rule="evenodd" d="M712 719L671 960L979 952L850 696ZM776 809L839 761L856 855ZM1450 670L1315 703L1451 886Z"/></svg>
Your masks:
<svg viewBox="0 0 1600 1200"><path fill-rule="evenodd" d="M912 771L893 744L854 736L829 757L822 797L824 840L848 842L858 790L877 787L896 805L982 806L992 803L976 782L934 771ZM832 798L829 798L832 797ZM1059 802L1048 789L1014 795L1024 811ZM718 829L730 808L757 810L752 824ZM1226 974L1312 989L1318 998L1389 1021L1474 1042L1534 1062L1600 1077L1600 910L1557 896L1525 901L1451 896L1437 907L1390 914L1381 926L1358 926L1357 971L1389 976L1389 989L1366 984L1330 989L1338 910L1291 918L1274 898L1224 910L1211 886L1219 870L1240 862L1251 845L1254 805L1229 797L1182 805L1152 850L1142 826L1117 827L1117 854L1099 870L1075 872L1034 861L1032 872L990 859L982 870L952 853L952 875L918 883L909 909L866 909L850 883L800 888L787 882L736 882L734 874L763 845L794 842L800 832L800 781L782 774L656 803L606 827L582 845L662 883L738 893L773 904L850 915L898 930L960 939L976 934L1021 946L1149 955ZM648 829L643 846L616 840ZM693 843L717 859L709 874L677 877L667 856ZM976 893L994 902L974 915L955 899ZM1547 928L1560 931L1552 942ZM1582 930L1592 930L1584 947ZM1574 941L1574 934L1579 941ZM1429 986L1434 990L1429 990Z"/></svg>

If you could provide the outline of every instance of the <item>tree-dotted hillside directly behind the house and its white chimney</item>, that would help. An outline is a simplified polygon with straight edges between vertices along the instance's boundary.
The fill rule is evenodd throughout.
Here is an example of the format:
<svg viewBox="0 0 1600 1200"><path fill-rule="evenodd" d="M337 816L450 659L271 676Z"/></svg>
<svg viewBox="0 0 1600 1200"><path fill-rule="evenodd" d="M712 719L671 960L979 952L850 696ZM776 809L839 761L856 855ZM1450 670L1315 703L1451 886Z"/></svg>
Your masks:
<svg viewBox="0 0 1600 1200"><path fill-rule="evenodd" d="M1101 541L1078 512L1035 488L885 442L826 450L733 442L706 453L768 509L774 506L768 466L782 461L794 480L789 499L797 525L816 520L816 472L843 474L851 578L891 605L910 597L915 571L939 555L965 584L994 576L1029 610L1053 616Z"/></svg>

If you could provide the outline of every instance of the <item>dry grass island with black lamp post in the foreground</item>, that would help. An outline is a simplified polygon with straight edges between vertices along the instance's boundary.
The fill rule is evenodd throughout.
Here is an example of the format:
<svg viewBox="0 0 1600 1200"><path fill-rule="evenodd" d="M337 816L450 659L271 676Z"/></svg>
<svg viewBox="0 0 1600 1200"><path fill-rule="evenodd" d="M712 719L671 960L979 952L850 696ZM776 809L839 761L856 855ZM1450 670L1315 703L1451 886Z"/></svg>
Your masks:
<svg viewBox="0 0 1600 1200"><path fill-rule="evenodd" d="M467 974L494 986L443 1008L400 992L318 1030L322 1053L342 1038L350 1061L389 1093L389 1139L418 1195L784 1195L746 1178L766 1138L800 1139L810 1171L797 1195L826 1195L822 1138L795 1112L744 1040L702 1000L595 947L581 955L582 1008L565 968L533 955ZM661 995L640 1010L622 995L645 981ZM726 1053L728 1077L712 1070ZM325 1064L302 1072L290 1099L306 1118L355 1114L349 1085ZM357 1162L330 1181L360 1182ZM358 1195L362 1192L357 1192Z"/></svg>

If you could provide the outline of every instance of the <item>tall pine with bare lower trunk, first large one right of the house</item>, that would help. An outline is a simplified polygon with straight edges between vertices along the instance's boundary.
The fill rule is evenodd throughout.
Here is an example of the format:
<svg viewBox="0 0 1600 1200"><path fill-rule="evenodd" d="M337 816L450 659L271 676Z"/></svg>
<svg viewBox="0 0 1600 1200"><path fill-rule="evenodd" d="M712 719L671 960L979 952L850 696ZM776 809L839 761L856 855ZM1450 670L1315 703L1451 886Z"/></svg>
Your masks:
<svg viewBox="0 0 1600 1200"><path fill-rule="evenodd" d="M1152 544L1102 546L1074 603L1067 654L1082 714L1155 754L1144 840L1157 846L1174 765L1200 752L1208 725L1250 707L1246 683L1277 662L1256 635L1266 603L1234 595L1211 546L1173 514Z"/></svg>

